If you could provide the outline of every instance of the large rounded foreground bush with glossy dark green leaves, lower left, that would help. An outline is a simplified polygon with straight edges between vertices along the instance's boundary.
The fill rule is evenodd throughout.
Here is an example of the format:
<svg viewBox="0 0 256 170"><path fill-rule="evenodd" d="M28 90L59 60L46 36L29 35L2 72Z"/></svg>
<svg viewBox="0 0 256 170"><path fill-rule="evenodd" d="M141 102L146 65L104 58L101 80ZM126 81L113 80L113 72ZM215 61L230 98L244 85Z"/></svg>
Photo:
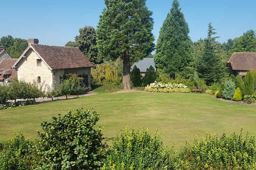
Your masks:
<svg viewBox="0 0 256 170"><path fill-rule="evenodd" d="M41 122L42 148L39 154L45 163L39 169L97 169L102 165L105 145L101 143L101 127L94 128L98 113L77 109L53 122ZM60 115L59 115L60 116ZM104 128L104 127L103 127Z"/></svg>

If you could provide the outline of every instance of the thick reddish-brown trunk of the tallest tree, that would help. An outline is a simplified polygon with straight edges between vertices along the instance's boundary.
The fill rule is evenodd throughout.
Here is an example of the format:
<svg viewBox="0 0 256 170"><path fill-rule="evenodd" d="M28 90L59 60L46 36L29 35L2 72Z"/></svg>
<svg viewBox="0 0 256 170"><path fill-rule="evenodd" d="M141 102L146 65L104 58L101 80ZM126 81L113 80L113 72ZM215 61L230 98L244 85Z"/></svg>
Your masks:
<svg viewBox="0 0 256 170"><path fill-rule="evenodd" d="M124 55L124 61L123 61L123 88L125 90L131 89L131 77L130 77L130 56L128 51L126 51L126 55Z"/></svg>

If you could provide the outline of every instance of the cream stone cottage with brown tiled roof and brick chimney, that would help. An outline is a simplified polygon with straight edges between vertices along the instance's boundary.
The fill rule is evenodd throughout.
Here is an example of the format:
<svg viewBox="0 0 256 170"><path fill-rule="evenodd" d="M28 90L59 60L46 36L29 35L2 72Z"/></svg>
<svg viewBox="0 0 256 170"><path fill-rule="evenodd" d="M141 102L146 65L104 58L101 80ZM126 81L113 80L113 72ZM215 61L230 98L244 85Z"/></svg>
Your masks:
<svg viewBox="0 0 256 170"><path fill-rule="evenodd" d="M77 47L38 44L38 39L28 39L28 47L12 66L18 79L26 82L38 80L56 88L64 74L76 73L91 89L91 67L94 65Z"/></svg>

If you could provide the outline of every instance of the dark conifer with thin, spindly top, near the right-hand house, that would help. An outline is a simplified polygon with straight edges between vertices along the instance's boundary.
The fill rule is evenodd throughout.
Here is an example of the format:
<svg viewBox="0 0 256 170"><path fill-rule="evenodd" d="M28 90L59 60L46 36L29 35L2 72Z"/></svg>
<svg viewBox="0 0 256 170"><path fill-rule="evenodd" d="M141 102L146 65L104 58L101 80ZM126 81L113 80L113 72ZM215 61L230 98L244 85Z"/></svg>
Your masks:
<svg viewBox="0 0 256 170"><path fill-rule="evenodd" d="M196 69L198 71L198 76L205 80L207 85L217 79L219 81L225 73L227 72L227 68L224 67L221 58L218 57L214 51L213 43L216 38L212 37L217 34L214 32L214 29L211 23L208 24L208 34L207 38L204 39L205 47L204 53L202 56L199 56L196 61Z"/></svg>

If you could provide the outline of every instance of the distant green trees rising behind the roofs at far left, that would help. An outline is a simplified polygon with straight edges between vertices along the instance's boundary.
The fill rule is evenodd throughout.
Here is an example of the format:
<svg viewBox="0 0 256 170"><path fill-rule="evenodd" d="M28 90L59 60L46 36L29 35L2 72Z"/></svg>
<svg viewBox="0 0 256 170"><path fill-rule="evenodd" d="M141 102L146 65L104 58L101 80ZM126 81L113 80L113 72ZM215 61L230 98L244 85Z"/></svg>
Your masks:
<svg viewBox="0 0 256 170"><path fill-rule="evenodd" d="M12 36L3 36L0 39L0 44L11 55L12 58L19 58L23 51L28 47L28 42L25 39L13 38Z"/></svg>

